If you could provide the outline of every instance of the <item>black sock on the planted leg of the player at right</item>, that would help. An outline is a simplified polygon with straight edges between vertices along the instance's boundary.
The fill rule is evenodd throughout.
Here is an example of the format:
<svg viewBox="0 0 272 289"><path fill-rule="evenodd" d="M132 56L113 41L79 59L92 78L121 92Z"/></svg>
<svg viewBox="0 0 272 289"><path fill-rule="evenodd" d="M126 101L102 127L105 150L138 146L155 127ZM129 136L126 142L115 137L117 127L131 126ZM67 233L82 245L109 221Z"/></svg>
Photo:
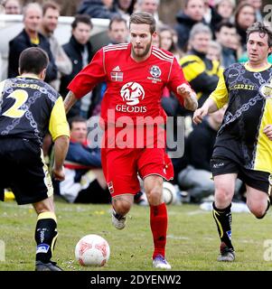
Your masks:
<svg viewBox="0 0 272 289"><path fill-rule="evenodd" d="M215 207L214 202L212 203L212 216L213 219L215 219L215 223L219 232L220 240L222 243L225 243L225 245L229 248L233 249L233 246L231 244L231 203L230 206L226 209L217 209Z"/></svg>

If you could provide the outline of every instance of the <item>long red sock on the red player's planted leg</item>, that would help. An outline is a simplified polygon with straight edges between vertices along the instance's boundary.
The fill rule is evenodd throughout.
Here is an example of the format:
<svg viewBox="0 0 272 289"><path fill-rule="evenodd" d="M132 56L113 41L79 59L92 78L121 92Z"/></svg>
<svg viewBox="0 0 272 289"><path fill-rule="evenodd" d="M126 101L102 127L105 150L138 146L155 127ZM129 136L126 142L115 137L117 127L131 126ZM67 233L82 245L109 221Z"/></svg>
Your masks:
<svg viewBox="0 0 272 289"><path fill-rule="evenodd" d="M162 256L165 255L167 221L168 217L165 203L158 206L150 206L150 227L155 247L153 258L158 254Z"/></svg>

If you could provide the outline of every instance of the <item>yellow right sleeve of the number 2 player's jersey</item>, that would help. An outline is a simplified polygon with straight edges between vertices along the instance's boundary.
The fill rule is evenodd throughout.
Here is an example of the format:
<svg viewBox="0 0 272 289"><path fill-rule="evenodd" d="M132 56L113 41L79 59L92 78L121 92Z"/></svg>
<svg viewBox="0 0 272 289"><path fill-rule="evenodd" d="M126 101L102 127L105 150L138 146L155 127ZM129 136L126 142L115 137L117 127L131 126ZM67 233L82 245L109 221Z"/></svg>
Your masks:
<svg viewBox="0 0 272 289"><path fill-rule="evenodd" d="M49 132L52 135L52 140L55 141L61 135L70 137L70 128L67 122L63 99L59 97L52 108L52 113L49 121Z"/></svg>

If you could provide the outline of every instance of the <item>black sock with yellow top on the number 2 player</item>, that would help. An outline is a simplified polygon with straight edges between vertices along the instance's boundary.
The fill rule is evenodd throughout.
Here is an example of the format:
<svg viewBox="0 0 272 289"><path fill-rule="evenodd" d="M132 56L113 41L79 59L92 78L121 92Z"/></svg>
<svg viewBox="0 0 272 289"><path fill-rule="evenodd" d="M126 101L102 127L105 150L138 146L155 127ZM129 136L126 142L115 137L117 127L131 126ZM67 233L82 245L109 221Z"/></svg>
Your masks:
<svg viewBox="0 0 272 289"><path fill-rule="evenodd" d="M56 216L52 212L39 214L35 229L36 261L49 263L58 237Z"/></svg>

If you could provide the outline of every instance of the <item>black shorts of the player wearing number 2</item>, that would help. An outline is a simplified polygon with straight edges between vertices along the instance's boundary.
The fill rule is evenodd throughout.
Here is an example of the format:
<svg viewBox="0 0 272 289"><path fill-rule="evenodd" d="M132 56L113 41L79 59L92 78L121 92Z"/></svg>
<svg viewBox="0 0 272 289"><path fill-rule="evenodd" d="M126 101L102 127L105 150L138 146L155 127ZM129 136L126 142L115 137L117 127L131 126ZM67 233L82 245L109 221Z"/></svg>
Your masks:
<svg viewBox="0 0 272 289"><path fill-rule="evenodd" d="M19 205L52 196L52 180L39 144L22 138L0 138L0 200L4 200L4 188L14 192Z"/></svg>

